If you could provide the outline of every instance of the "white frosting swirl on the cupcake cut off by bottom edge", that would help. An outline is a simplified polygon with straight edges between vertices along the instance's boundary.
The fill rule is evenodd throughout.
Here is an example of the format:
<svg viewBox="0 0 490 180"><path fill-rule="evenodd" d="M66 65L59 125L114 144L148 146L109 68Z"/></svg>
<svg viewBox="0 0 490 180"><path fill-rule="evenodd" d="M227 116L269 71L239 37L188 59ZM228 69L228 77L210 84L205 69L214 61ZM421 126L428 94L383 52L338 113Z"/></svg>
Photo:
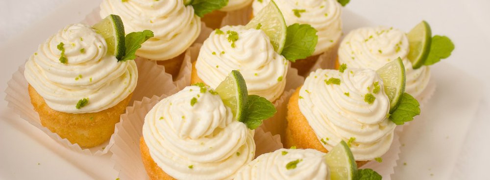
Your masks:
<svg viewBox="0 0 490 180"><path fill-rule="evenodd" d="M248 163L235 180L330 180L324 155L313 149L279 149ZM295 168L286 168L288 163L298 159Z"/></svg>

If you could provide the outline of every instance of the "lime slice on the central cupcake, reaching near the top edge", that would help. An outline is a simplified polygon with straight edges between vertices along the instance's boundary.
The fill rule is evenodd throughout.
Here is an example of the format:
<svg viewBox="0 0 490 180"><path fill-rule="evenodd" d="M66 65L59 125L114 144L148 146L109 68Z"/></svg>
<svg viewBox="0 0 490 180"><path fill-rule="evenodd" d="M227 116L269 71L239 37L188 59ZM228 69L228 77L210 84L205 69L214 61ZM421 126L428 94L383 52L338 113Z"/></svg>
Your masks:
<svg viewBox="0 0 490 180"><path fill-rule="evenodd" d="M286 43L286 29L288 27L274 0L270 0L269 4L260 10L245 27L262 29L269 36L274 50L279 54L282 52Z"/></svg>

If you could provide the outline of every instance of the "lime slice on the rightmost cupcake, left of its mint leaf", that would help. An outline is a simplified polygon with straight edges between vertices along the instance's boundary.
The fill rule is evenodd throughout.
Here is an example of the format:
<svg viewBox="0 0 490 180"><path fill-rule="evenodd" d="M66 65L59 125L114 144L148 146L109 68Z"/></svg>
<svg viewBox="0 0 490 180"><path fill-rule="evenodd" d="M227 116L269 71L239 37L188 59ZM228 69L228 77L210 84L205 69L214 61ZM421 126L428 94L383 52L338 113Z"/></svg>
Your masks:
<svg viewBox="0 0 490 180"><path fill-rule="evenodd" d="M418 69L422 67L425 59L429 55L432 32L427 22L422 21L407 34L410 43L408 59L412 62L412 67Z"/></svg>

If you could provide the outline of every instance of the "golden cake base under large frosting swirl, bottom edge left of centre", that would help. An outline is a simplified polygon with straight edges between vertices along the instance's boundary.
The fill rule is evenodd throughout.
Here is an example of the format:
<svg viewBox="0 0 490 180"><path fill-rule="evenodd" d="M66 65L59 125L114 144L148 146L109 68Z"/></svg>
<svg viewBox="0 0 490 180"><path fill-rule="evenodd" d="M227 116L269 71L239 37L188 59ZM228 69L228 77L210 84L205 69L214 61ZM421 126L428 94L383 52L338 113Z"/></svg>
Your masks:
<svg viewBox="0 0 490 180"><path fill-rule="evenodd" d="M148 146L145 143L143 136L140 138L140 152L143 165L145 166L145 170L147 171L150 180L175 180L170 175L165 173L162 168L156 164L153 158L151 158Z"/></svg>

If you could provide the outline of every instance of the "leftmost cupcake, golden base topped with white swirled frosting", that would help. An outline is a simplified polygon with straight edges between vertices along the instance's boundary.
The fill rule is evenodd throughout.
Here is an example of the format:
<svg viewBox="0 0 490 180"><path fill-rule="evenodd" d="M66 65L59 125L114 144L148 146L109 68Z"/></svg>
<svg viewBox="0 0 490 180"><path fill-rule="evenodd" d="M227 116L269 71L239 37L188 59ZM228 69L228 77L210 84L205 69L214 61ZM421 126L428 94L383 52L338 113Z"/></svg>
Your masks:
<svg viewBox="0 0 490 180"><path fill-rule="evenodd" d="M114 132L138 70L134 61L119 61L108 53L104 37L91 26L74 24L39 46L25 63L24 76L41 124L89 148Z"/></svg>

